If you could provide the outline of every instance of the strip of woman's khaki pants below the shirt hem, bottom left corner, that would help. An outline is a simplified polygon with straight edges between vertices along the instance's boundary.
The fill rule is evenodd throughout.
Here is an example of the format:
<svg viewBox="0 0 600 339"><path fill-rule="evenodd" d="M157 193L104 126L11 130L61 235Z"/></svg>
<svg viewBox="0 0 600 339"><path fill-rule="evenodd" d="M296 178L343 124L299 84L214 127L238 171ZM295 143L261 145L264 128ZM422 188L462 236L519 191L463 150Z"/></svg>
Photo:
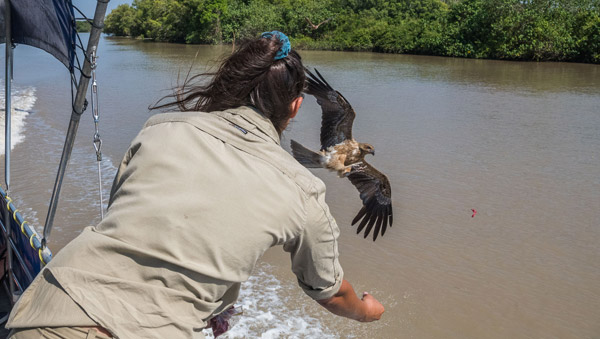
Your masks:
<svg viewBox="0 0 600 339"><path fill-rule="evenodd" d="M8 335L8 339L109 339L104 334L98 333L95 328L89 327L40 327L16 328Z"/></svg>

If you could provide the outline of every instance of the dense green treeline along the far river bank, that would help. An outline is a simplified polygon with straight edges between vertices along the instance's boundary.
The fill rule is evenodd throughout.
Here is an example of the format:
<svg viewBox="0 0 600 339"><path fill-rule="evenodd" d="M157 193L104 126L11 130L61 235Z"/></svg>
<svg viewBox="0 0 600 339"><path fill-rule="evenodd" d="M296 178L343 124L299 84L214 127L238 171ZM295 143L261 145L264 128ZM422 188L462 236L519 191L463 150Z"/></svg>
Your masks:
<svg viewBox="0 0 600 339"><path fill-rule="evenodd" d="M105 24L157 41L277 29L304 49L600 63L600 0L134 0Z"/></svg>

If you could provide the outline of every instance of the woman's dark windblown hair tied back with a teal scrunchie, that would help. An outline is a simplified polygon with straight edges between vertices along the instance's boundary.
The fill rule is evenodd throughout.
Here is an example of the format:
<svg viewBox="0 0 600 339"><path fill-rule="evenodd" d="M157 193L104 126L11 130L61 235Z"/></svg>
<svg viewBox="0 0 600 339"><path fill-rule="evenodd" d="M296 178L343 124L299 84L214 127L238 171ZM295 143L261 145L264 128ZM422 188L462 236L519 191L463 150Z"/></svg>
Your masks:
<svg viewBox="0 0 600 339"><path fill-rule="evenodd" d="M216 72L186 77L172 95L150 109L178 107L181 111L222 111L253 106L267 117L279 134L290 118L291 103L304 90L304 66L295 51L275 60L282 42L273 36L242 42ZM201 82L212 76L208 84ZM165 99L173 101L161 103Z"/></svg>

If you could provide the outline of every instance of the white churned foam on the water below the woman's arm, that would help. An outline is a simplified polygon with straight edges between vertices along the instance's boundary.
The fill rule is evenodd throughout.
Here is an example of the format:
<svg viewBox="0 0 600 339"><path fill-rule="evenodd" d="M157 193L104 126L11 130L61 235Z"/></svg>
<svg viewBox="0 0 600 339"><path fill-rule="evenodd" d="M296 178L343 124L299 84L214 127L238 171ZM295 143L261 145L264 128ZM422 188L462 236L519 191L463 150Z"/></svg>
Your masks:
<svg viewBox="0 0 600 339"><path fill-rule="evenodd" d="M241 305L244 313L234 316L235 325L218 339L338 338L300 305L294 307L285 303L282 298L289 294L287 288L269 273L270 270L269 265L262 264L242 284L236 305ZM203 333L207 338L214 338L211 330Z"/></svg>

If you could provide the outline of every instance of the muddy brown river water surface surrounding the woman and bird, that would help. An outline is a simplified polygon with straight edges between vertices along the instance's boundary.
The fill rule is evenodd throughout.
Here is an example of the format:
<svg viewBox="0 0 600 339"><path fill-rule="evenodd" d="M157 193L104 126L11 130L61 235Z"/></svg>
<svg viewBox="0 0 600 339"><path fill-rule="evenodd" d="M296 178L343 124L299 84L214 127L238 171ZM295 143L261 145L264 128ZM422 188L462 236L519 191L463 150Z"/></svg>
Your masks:
<svg viewBox="0 0 600 339"><path fill-rule="evenodd" d="M105 194L153 114L148 105L170 93L178 72L192 63L202 71L230 49L101 40ZM350 226L361 206L350 182L314 171L341 229L345 277L386 312L371 324L328 314L303 295L275 248L245 284L230 338L600 337L600 66L301 54L353 105L354 135L375 146L368 161L392 184L394 225L374 243ZM70 115L69 78L44 52L19 46L15 57L11 191L41 231ZM319 126L307 97L283 144L318 148ZM93 131L88 109L54 253L99 221Z"/></svg>

